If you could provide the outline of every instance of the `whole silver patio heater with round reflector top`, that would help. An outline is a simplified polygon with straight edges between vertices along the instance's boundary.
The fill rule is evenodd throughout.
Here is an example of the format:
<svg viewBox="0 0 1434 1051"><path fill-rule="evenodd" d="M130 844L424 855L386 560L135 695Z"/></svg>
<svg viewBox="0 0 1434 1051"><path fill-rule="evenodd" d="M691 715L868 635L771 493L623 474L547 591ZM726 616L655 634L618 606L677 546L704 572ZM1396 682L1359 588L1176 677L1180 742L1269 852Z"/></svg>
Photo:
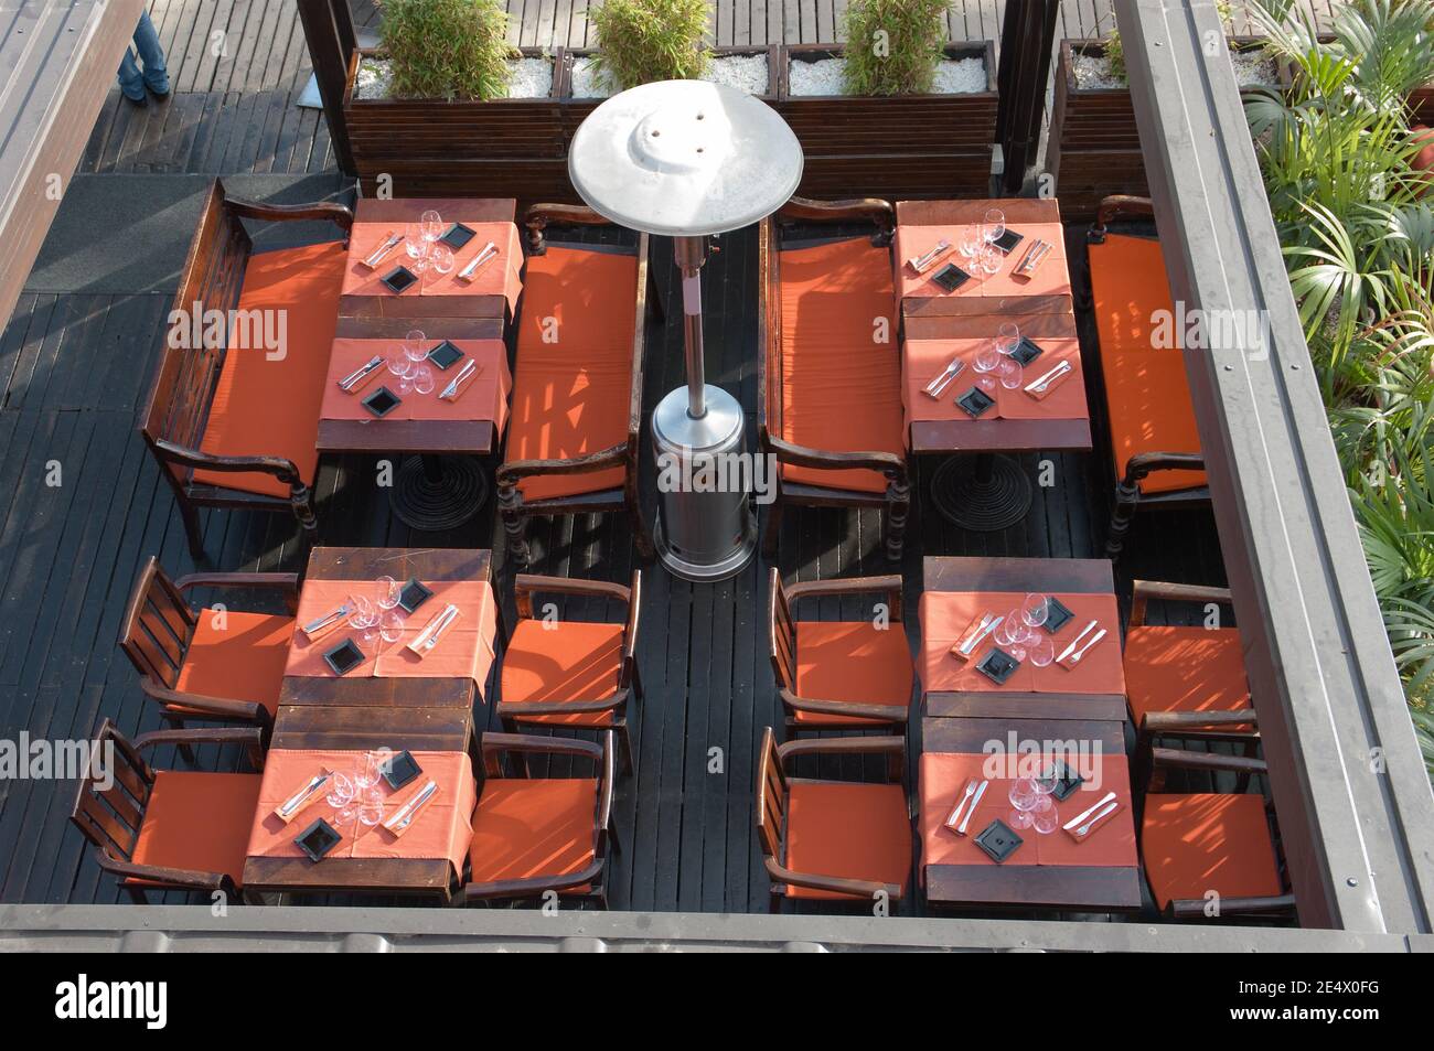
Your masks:
<svg viewBox="0 0 1434 1051"><path fill-rule="evenodd" d="M753 466L741 404L703 370L707 238L766 218L802 179L802 146L766 103L706 80L661 80L615 95L578 128L568 175L612 222L674 239L683 275L687 387L652 412L658 558L687 581L739 574L757 548ZM773 482L774 483L774 482Z"/></svg>

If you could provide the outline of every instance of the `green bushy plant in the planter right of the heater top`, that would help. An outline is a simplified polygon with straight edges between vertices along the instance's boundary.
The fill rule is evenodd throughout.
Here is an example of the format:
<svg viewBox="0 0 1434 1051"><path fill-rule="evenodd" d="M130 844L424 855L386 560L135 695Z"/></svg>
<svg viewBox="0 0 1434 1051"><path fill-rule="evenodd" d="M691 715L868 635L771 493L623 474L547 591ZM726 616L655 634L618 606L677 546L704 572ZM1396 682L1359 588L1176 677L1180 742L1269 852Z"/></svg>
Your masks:
<svg viewBox="0 0 1434 1051"><path fill-rule="evenodd" d="M852 0L842 26L847 95L925 95L946 40L949 0Z"/></svg>

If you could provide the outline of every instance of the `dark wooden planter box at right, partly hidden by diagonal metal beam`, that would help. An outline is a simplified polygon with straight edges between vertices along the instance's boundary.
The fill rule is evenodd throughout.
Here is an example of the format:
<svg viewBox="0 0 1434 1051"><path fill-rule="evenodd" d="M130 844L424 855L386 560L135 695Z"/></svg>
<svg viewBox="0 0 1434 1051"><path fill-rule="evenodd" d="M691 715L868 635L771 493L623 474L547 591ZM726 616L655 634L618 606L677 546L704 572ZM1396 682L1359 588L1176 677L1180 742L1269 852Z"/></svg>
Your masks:
<svg viewBox="0 0 1434 1051"><path fill-rule="evenodd" d="M1262 43L1259 37L1229 39L1233 50ZM1130 89L1076 83L1076 54L1104 53L1100 40L1063 40L1055 65L1055 105L1045 168L1065 219L1094 218L1101 198L1110 194L1150 194ZM1288 70L1281 69L1279 86L1288 86Z"/></svg>

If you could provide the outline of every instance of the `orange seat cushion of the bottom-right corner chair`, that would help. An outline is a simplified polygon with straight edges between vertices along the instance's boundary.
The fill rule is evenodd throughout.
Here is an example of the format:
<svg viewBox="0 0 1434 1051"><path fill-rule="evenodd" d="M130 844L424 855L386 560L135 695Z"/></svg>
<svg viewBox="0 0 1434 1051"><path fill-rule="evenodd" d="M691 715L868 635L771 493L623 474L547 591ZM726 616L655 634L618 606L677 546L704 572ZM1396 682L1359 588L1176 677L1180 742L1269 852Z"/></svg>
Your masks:
<svg viewBox="0 0 1434 1051"><path fill-rule="evenodd" d="M1282 893L1262 796L1146 797L1140 853L1160 908L1172 900Z"/></svg>

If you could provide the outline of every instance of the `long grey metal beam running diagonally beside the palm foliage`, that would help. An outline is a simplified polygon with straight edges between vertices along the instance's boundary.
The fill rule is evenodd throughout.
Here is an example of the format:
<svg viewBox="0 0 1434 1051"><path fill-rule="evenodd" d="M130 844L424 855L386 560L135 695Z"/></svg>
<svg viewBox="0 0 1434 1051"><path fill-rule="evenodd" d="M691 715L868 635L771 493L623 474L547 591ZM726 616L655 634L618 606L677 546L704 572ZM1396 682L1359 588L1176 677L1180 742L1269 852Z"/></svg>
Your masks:
<svg viewBox="0 0 1434 1051"><path fill-rule="evenodd" d="M1172 293L1265 340L1186 347L1301 922L1428 932L1434 796L1212 0L1116 0ZM1258 311L1246 314L1245 311ZM1265 343L1268 346L1259 346Z"/></svg>

